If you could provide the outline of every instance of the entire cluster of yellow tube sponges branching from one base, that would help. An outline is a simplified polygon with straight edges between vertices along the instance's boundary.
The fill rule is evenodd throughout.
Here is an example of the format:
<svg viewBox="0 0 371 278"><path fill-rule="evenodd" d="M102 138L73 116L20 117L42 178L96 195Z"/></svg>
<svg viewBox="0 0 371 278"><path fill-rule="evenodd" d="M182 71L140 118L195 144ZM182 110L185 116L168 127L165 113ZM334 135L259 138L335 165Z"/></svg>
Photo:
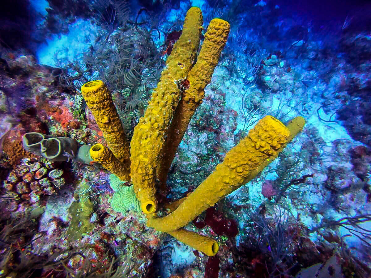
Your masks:
<svg viewBox="0 0 371 278"><path fill-rule="evenodd" d="M147 110L134 129L130 160L120 119L104 83L99 80L88 82L81 92L109 147L93 145L90 150L92 159L122 181L133 183L141 209L148 216L148 226L213 256L219 248L214 239L182 227L253 179L302 130L305 120L297 117L285 126L272 116L266 116L227 153L224 161L194 192L176 202L169 215L157 218L155 179L160 179L162 186L165 184L175 151L194 111L202 102L204 88L210 83L229 34L229 23L221 19L211 20L194 64L202 23L200 9L192 7L188 10L181 37L174 44ZM121 151L118 149L120 144L123 146Z"/></svg>

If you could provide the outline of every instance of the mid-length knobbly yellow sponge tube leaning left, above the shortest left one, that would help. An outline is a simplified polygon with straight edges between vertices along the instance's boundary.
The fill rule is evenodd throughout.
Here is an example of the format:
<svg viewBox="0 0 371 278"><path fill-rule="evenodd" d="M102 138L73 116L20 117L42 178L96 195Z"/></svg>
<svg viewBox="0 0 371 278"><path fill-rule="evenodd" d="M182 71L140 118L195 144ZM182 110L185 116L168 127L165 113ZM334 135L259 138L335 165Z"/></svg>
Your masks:
<svg viewBox="0 0 371 278"><path fill-rule="evenodd" d="M101 80L96 80L85 83L81 87L81 93L102 130L108 148L118 160L129 166L129 142L108 88Z"/></svg>

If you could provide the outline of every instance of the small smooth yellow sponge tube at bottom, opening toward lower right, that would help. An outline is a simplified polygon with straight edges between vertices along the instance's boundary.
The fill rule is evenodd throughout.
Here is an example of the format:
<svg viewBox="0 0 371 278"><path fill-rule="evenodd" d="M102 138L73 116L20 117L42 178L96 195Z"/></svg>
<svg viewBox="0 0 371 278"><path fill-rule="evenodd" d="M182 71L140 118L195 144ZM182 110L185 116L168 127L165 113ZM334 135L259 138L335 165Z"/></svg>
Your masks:
<svg viewBox="0 0 371 278"><path fill-rule="evenodd" d="M205 253L208 256L214 256L218 250L219 245L215 239L207 236L199 235L184 229L167 232L169 235L174 236L178 241L191 246L192 248Z"/></svg>

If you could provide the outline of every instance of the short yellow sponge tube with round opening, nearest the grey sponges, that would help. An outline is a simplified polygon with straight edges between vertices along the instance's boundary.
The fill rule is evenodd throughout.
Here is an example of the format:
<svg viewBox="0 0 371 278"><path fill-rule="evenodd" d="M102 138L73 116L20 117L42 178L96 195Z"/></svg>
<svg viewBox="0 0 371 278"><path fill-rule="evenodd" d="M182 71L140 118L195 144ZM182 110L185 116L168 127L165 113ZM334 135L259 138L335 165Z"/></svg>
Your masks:
<svg viewBox="0 0 371 278"><path fill-rule="evenodd" d="M130 168L118 160L111 150L102 144L95 144L90 148L90 156L96 162L114 173L121 181L130 181Z"/></svg>

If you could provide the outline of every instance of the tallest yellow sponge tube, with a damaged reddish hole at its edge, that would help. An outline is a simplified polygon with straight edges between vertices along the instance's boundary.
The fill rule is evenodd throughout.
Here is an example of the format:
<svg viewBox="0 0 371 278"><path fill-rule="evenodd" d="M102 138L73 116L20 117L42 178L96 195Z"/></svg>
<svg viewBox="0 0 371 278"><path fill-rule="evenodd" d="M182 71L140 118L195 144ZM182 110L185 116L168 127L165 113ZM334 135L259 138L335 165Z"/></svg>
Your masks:
<svg viewBox="0 0 371 278"><path fill-rule="evenodd" d="M134 128L131 140L131 177L142 211L157 209L155 176L165 134L180 98L177 81L184 79L196 59L202 25L201 10L192 7L185 16L180 38L166 61L160 82L152 93L144 116Z"/></svg>

